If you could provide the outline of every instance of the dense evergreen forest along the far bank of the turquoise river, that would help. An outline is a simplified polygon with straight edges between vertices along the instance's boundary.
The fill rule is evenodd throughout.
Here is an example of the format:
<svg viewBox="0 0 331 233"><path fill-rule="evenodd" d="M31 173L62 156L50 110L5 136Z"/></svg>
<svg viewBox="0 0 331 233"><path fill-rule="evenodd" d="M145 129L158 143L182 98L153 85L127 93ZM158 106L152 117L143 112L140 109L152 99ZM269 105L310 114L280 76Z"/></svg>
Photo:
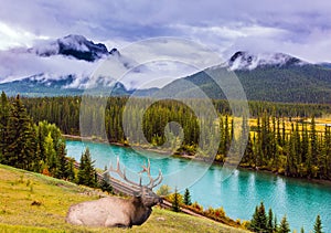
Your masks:
<svg viewBox="0 0 331 233"><path fill-rule="evenodd" d="M67 135L81 134L79 113L85 110L85 120L88 120L90 126L90 131L85 134L90 137L103 135L102 126L105 120L106 138L100 139L122 145L129 139L122 128L124 110L129 110L136 116L143 110L146 102L150 102L147 98L137 98L135 105L127 107L127 97L85 98L87 104L85 103L82 109L82 97L22 98L22 102L34 123L47 120ZM199 105L199 99L191 100ZM234 126L227 102L214 100L213 104L220 116L221 130L215 161L224 162L233 140L241 140L241 131L244 129ZM203 107L201 103L201 108ZM250 125L250 133L241 166L290 177L330 180L331 128L328 124L322 127L316 124L316 118L331 113L330 108L329 105L249 102L250 117L255 121L252 124L244 119ZM175 153L194 155L199 144L200 125L194 113L177 100L161 100L148 108L143 115L142 128L149 145L140 146L158 148L162 145L166 140L164 127L169 121L178 121L183 128L184 139ZM135 135L137 126L134 123L126 127ZM213 130L204 136L206 144L212 135ZM139 144L139 140L135 142Z"/></svg>

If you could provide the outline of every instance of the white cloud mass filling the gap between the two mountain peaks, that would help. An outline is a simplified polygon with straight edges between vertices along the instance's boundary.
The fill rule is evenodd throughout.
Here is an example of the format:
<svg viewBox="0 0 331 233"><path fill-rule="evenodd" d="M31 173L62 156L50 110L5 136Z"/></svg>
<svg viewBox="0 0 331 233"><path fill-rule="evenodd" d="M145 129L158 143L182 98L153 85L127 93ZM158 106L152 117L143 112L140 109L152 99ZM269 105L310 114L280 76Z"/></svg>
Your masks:
<svg viewBox="0 0 331 233"><path fill-rule="evenodd" d="M119 81L128 88L162 87L174 78L223 62L217 54L201 44L174 38L130 43L119 52L119 56L110 56L100 64L89 84L96 85L103 76Z"/></svg>

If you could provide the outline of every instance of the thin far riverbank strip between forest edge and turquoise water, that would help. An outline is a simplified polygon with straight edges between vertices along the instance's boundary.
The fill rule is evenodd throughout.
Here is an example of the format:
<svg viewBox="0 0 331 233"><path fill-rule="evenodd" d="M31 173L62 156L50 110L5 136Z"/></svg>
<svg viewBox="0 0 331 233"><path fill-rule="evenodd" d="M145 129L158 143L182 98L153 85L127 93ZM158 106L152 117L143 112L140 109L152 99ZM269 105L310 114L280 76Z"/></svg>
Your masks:
<svg viewBox="0 0 331 233"><path fill-rule="evenodd" d="M108 140L105 139L100 139L100 138L96 138L96 137L82 137L82 136L77 136L77 135L63 135L64 138L66 139L72 139L72 140L81 140L81 141L90 141L90 142L99 142L99 144L109 144L113 146L118 146L118 147L131 147L129 145L126 144L121 144L121 142L109 142ZM209 162L210 161L205 161L202 158L199 157L194 157L194 156L190 156L188 153L172 153L172 151L164 151L164 150L160 150L160 149L156 149L156 148L149 148L149 147L142 147L142 146L132 146L131 148L135 148L137 150L141 150L141 151L149 151L149 152L157 152L160 155L171 155L171 157L173 158L180 158L180 159L185 159L185 160L195 160L199 162ZM223 166L223 162L221 161L213 161L212 162L215 166ZM239 169L243 170L250 170L250 171L256 171L256 172L261 172L261 173L271 173L275 176L279 176L279 177L285 177L285 178L290 178L290 179L295 179L295 180L302 180L302 181L307 181L307 182L311 182L311 183L318 183L318 184L324 184L324 186L331 186L331 180L324 180L324 179L311 179L311 178L301 178L301 177L291 177L291 176L286 176L284 173L278 173L276 171L271 171L268 170L267 168L253 168L249 166L238 166Z"/></svg>

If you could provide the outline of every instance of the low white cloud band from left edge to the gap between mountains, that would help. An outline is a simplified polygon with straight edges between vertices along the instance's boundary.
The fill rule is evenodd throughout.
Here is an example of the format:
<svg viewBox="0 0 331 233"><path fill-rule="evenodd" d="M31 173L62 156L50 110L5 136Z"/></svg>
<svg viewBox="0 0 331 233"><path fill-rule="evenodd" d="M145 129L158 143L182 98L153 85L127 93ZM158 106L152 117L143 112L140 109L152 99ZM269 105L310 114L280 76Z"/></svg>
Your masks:
<svg viewBox="0 0 331 233"><path fill-rule="evenodd" d="M221 63L221 59L207 49L192 41L171 38L131 43L121 49L120 55L114 54L94 63L62 55L36 55L35 51L45 49L53 50L52 41L44 41L30 52L26 49L0 52L2 82L34 75L40 75L36 78L41 80L74 75L74 82L67 88L109 86L115 81L129 89L162 87L174 78Z"/></svg>

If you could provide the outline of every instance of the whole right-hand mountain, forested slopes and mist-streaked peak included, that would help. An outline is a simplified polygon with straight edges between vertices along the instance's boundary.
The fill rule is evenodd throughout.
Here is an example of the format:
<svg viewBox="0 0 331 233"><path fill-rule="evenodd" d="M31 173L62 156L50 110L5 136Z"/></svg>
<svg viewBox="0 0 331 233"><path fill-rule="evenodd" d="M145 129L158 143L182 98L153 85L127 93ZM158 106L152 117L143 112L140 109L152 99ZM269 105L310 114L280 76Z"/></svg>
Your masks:
<svg viewBox="0 0 331 233"><path fill-rule="evenodd" d="M228 67L241 81L249 100L331 104L331 68L281 53L236 52L225 64L170 83L161 94L173 96L180 93L194 97L190 93L200 88L210 98L224 99L223 91L209 75L214 74L222 82L220 74L231 72ZM192 87L188 87L188 83ZM224 88L236 92L233 86L224 85Z"/></svg>

